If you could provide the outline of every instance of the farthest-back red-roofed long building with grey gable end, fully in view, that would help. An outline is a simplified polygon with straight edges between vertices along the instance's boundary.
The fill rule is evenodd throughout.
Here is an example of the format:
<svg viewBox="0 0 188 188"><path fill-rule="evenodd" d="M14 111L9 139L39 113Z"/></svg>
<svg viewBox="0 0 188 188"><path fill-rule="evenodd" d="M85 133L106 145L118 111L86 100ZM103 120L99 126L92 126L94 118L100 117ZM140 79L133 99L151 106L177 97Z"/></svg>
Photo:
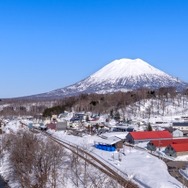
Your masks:
<svg viewBox="0 0 188 188"><path fill-rule="evenodd" d="M172 139L172 134L168 131L144 131L144 132L130 132L126 136L126 141L131 144L140 142L149 142L151 140L165 140Z"/></svg>

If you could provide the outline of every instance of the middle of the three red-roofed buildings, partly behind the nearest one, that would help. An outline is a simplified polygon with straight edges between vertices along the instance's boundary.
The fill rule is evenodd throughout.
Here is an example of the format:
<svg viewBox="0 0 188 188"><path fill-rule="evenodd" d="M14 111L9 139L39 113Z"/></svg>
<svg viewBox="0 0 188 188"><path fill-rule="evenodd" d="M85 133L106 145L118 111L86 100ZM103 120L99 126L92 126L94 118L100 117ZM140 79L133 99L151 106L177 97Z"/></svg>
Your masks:
<svg viewBox="0 0 188 188"><path fill-rule="evenodd" d="M167 140L151 140L147 144L147 149L156 151L157 148L167 147L170 144L184 144L188 143L188 138L172 138Z"/></svg>

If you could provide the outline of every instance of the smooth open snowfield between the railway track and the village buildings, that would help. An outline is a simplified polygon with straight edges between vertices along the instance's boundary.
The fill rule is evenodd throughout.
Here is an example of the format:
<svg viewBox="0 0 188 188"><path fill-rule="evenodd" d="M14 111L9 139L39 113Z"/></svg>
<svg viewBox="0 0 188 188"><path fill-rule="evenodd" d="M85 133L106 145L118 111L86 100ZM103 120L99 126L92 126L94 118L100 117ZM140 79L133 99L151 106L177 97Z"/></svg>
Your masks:
<svg viewBox="0 0 188 188"><path fill-rule="evenodd" d="M52 135L72 143L87 148L88 152L100 158L117 170L126 174L128 178L135 182L143 182L140 187L172 188L182 187L182 184L170 176L166 164L150 155L147 151L141 151L124 146L120 152L108 152L96 149L93 144L97 136L75 137L67 135L65 132L52 132ZM121 161L119 161L119 156Z"/></svg>

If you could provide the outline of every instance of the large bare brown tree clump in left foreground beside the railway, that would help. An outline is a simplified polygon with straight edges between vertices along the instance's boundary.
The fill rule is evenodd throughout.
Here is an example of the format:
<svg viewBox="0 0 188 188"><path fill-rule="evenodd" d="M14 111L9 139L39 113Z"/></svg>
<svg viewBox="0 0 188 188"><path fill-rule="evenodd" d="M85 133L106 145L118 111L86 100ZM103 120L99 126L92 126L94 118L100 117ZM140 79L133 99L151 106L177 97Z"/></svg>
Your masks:
<svg viewBox="0 0 188 188"><path fill-rule="evenodd" d="M57 187L58 166L66 156L60 145L49 139L44 141L30 132L20 132L9 136L7 149L10 151L12 177L22 188L45 188L47 184Z"/></svg>

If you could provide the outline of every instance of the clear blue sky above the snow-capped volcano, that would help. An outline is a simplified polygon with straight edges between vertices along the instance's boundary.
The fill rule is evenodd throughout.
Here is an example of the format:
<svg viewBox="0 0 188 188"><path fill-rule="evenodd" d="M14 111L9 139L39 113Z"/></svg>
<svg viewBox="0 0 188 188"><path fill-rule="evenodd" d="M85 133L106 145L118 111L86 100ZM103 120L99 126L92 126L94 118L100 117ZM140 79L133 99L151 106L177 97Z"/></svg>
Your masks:
<svg viewBox="0 0 188 188"><path fill-rule="evenodd" d="M141 58L188 82L187 0L0 0L0 98Z"/></svg>

